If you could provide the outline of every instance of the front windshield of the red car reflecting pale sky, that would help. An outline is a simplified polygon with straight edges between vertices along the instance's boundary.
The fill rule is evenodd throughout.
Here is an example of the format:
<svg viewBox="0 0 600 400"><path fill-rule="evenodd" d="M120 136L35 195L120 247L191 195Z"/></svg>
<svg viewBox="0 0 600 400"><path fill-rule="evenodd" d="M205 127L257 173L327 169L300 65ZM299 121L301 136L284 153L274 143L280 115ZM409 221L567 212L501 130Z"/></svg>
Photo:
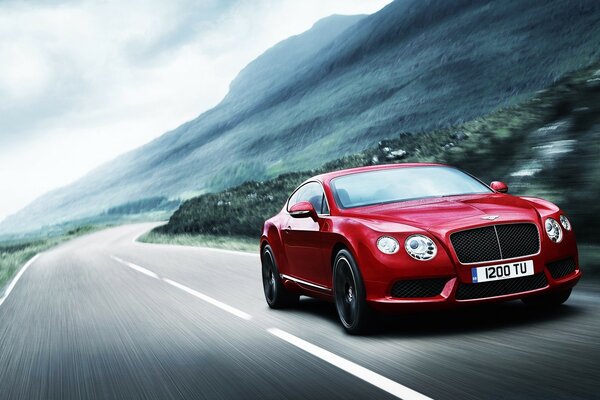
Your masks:
<svg viewBox="0 0 600 400"><path fill-rule="evenodd" d="M332 179L331 188L341 208L492 192L470 175L443 166L359 172Z"/></svg>

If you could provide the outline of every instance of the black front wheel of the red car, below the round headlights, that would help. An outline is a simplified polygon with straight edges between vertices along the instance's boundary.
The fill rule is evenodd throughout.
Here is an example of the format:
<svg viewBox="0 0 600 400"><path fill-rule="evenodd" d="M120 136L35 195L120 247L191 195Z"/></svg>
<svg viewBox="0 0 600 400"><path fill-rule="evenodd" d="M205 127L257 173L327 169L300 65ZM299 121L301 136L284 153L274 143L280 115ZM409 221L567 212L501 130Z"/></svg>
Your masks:
<svg viewBox="0 0 600 400"><path fill-rule="evenodd" d="M342 325L348 333L368 331L371 310L360 271L347 250L340 250L333 264L333 295Z"/></svg>

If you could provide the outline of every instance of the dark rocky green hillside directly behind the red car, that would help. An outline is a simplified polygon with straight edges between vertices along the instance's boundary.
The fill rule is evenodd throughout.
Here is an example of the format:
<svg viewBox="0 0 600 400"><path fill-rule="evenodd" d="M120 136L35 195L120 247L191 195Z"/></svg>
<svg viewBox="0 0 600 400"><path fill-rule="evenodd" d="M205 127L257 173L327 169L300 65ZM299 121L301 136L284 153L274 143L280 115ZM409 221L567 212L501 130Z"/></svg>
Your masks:
<svg viewBox="0 0 600 400"><path fill-rule="evenodd" d="M556 202L569 213L580 240L599 243L600 63L565 76L518 105L464 124L424 133L401 131L318 169L193 198L156 233L256 238L264 220L310 176L362 165L426 161L456 165L488 182L504 180L513 194Z"/></svg>

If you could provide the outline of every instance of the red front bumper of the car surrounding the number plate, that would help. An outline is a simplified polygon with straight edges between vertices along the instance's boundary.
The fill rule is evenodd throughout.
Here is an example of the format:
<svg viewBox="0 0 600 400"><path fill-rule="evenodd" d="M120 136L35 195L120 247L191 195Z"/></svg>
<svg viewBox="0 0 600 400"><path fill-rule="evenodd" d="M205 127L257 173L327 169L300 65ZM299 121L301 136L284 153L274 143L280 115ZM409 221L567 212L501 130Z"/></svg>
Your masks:
<svg viewBox="0 0 600 400"><path fill-rule="evenodd" d="M540 229L538 227L538 230ZM575 286L581 277L577 243L572 231L564 231L560 243L551 242L547 235L541 235L540 248L535 254L465 264L460 262L451 246L450 234L448 231L430 236L438 247L437 256L430 261L414 260L403 251L394 255L384 255L372 251L368 246L359 247L357 255L368 304L380 311L402 311L514 300L544 292L568 290ZM488 282L472 283L472 268L526 260L533 262L533 276L493 281L489 282L489 285ZM570 268L567 271L559 268L560 272L557 273L554 264L567 260L571 262ZM405 296L405 292L394 290L394 285L398 282L418 280L436 281L436 291L432 293L416 290L411 296ZM440 280L443 287L440 286ZM495 282L501 286L499 290L498 287L493 287ZM490 287L491 290L487 290ZM423 293L426 293L426 296L423 296Z"/></svg>

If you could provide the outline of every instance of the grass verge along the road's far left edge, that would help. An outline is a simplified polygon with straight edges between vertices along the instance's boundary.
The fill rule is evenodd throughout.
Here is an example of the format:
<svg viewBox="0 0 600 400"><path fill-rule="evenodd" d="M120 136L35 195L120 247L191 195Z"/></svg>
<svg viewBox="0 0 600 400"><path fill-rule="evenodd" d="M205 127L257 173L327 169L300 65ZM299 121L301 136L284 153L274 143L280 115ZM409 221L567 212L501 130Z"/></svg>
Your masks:
<svg viewBox="0 0 600 400"><path fill-rule="evenodd" d="M28 241L0 242L0 296L4 294L5 285L15 273L37 253L48 250L76 237L104 228L106 228L106 226L86 225L73 228L60 236L32 239Z"/></svg>

